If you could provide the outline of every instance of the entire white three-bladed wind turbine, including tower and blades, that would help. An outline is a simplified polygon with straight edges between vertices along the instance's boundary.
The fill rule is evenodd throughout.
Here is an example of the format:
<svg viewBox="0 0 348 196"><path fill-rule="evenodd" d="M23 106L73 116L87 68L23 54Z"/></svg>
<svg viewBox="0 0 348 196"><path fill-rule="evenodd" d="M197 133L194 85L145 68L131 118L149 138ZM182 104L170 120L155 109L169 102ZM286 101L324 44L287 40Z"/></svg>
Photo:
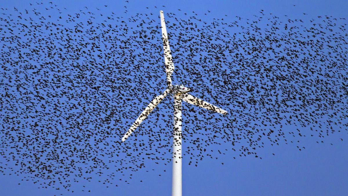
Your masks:
<svg viewBox="0 0 348 196"><path fill-rule="evenodd" d="M211 110L221 114L227 114L227 111L222 110L212 104L209 104L197 97L194 97L187 92L190 91L189 88L182 85L172 85L172 74L174 71L174 65L172 61L172 54L169 48L168 36L166 24L163 16L163 11L160 11L161 16L161 29L163 37L163 49L164 49L164 62L166 66L167 73L167 89L159 96L155 97L150 104L145 108L145 110L139 115L135 120L133 125L129 128L127 133L122 137L122 142L124 142L127 137L133 133L133 131L140 125L143 120L152 112L153 109L168 95L168 93L174 95L174 129L173 129L173 176L172 176L172 195L181 196L182 195L182 178L181 178L181 100L186 101L195 106L203 107L207 110Z"/></svg>

